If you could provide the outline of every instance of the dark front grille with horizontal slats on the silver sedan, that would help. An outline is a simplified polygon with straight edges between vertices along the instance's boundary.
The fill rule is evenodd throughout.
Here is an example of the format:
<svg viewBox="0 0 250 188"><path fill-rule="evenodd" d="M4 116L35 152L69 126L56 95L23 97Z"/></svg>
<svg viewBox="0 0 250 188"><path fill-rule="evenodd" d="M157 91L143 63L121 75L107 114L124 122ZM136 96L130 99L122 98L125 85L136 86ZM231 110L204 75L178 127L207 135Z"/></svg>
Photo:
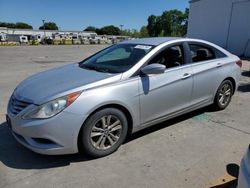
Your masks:
<svg viewBox="0 0 250 188"><path fill-rule="evenodd" d="M28 107L31 103L19 100L12 95L9 104L9 110L13 115L19 114L23 109Z"/></svg>

